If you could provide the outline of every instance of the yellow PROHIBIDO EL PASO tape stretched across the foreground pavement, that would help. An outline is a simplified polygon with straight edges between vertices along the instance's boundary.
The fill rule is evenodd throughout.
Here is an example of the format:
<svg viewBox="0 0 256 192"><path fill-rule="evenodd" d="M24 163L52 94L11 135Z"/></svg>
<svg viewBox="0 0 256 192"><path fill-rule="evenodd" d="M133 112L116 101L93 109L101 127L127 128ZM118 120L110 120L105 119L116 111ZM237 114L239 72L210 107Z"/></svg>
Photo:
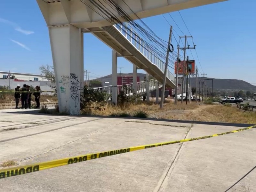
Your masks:
<svg viewBox="0 0 256 192"><path fill-rule="evenodd" d="M244 131L247 129L251 129L254 127L256 127L256 125L251 126L251 127L246 127L243 129L238 129L235 131L214 134L214 135L209 135L209 136L204 136L204 137L196 137L196 138L192 138L192 139L182 139L182 140L177 140L177 141L154 143L154 144L150 144L150 145L141 145L141 146L130 147L130 148L123 148L123 149L117 149L117 150L111 150L111 151L103 151L100 153L92 153L92 154L74 156L71 158L52 160L52 161L43 162L43 163L30 164L30 165L12 167L12 168L8 168L8 169L2 169L2 170L0 170L0 179L6 178L6 177L12 177L12 176L16 176L16 175L22 175L25 173L42 171L44 169L51 169L53 167L59 167L62 165L68 165L68 164L73 164L73 163L78 163L78 162L83 162L83 161L89 161L89 160L97 159L97 158L101 158L101 157L107 157L107 156L112 156L112 155L117 155L117 154L122 154L122 153L128 153L128 152L137 151L137 150L141 150L141 149L147 149L147 148L152 148L152 147L171 145L174 143L182 143L182 142L187 142L187 141L194 141L194 140L216 137L216 136L220 136L220 135L226 135L226 134L230 134L230 133L235 133L235 132L240 132L240 131Z"/></svg>

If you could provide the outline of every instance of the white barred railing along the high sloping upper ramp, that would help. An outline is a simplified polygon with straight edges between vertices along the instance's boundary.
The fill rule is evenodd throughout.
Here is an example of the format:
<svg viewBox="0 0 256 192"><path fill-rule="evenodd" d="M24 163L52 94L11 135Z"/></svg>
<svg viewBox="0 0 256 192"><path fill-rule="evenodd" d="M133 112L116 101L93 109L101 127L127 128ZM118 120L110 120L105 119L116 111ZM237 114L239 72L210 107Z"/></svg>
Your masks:
<svg viewBox="0 0 256 192"><path fill-rule="evenodd" d="M145 45L144 41L135 32L132 26L128 22L124 22L126 27L122 27L120 24L113 25L141 54L143 54L152 64L156 65L163 73L165 63L159 59L155 52L150 47ZM129 30L128 30L129 29ZM166 77L176 84L176 79L172 73L167 69Z"/></svg>

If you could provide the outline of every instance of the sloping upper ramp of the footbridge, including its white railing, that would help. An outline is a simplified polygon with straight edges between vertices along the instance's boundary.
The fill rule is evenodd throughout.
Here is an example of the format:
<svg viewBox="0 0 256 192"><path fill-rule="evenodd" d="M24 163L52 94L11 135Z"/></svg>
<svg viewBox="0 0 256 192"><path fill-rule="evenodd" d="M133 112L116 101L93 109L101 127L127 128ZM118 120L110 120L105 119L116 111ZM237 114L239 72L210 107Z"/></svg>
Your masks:
<svg viewBox="0 0 256 192"><path fill-rule="evenodd" d="M129 23L126 22L124 24L126 25L125 28L122 28L120 24L116 24L100 28L86 28L86 30L92 32L94 36L115 50L119 56L123 56L135 66L153 76L160 83L163 83L165 63L159 59L150 47L141 41L141 38ZM175 84L175 77L167 69L166 86L175 88Z"/></svg>

